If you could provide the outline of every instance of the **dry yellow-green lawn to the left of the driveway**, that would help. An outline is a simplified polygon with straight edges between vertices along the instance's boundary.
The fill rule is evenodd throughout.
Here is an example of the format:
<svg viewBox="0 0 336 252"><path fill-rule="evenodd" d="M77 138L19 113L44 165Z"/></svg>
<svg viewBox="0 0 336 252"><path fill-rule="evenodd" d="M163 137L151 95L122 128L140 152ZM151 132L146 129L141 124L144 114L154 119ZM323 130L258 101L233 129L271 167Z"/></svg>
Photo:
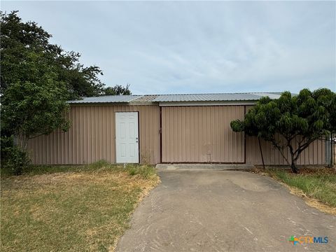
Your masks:
<svg viewBox="0 0 336 252"><path fill-rule="evenodd" d="M159 181L153 167L106 162L2 176L1 251L113 251Z"/></svg>

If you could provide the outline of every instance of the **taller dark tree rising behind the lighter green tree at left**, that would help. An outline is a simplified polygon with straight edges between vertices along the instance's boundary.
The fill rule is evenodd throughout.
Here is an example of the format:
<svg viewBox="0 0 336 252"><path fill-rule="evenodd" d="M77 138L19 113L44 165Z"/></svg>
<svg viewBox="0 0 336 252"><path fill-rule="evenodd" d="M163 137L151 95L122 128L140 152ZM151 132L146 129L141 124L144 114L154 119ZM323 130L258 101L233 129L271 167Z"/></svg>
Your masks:
<svg viewBox="0 0 336 252"><path fill-rule="evenodd" d="M43 55L43 64L52 66L55 78L66 85L66 99L92 97L103 94L104 83L98 76L98 66L80 64L78 52L66 52L49 42L52 37L36 22L22 22L18 11L1 15L1 94L12 83L29 80L30 73L22 68L28 52Z"/></svg>

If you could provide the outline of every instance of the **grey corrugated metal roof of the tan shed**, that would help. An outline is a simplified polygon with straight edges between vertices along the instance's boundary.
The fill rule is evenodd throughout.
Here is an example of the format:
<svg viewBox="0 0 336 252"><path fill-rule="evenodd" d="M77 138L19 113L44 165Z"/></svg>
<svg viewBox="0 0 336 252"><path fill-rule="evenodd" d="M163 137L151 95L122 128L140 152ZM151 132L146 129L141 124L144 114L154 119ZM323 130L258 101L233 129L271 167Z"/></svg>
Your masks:
<svg viewBox="0 0 336 252"><path fill-rule="evenodd" d="M81 103L116 103L116 102L230 102L257 101L268 96L278 99L280 92L248 92L223 94L147 94L147 95L106 95L101 97L85 97L81 100L69 101L71 104Z"/></svg>

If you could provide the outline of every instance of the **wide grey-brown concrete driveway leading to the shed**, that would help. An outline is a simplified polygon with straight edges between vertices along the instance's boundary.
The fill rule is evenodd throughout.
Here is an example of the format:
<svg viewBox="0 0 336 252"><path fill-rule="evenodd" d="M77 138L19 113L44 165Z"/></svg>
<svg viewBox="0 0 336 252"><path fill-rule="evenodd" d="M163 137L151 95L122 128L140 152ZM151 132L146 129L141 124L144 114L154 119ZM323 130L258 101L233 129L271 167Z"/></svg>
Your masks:
<svg viewBox="0 0 336 252"><path fill-rule="evenodd" d="M162 183L134 212L117 251L336 251L336 217L267 176L160 171ZM296 244L290 236L328 237Z"/></svg>

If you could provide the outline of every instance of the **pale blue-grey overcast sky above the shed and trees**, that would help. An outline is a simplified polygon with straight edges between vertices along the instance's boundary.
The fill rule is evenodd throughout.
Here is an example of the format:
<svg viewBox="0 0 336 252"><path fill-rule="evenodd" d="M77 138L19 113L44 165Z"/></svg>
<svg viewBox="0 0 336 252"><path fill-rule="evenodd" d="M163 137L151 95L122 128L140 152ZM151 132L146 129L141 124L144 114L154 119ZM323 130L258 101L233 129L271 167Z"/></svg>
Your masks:
<svg viewBox="0 0 336 252"><path fill-rule="evenodd" d="M335 1L2 1L134 94L336 90Z"/></svg>

